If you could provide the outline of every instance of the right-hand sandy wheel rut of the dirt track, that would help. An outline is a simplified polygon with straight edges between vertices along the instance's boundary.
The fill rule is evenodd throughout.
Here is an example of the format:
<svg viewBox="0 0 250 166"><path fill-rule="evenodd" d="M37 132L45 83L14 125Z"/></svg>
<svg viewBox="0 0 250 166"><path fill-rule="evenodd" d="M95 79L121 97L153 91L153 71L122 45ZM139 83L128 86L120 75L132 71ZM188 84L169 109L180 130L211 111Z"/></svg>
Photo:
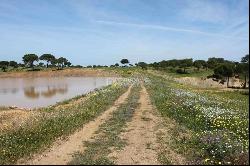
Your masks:
<svg viewBox="0 0 250 166"><path fill-rule="evenodd" d="M128 122L125 132L120 135L126 140L127 146L109 155L118 165L160 165L158 153L161 152L161 144L157 141L157 137L159 132L163 132L163 121L151 105L144 86L139 103L140 107L135 111L132 121ZM164 131L163 135L165 134L169 134L167 130ZM180 155L170 152L171 155L168 157L174 161L173 163L183 163L184 160Z"/></svg>

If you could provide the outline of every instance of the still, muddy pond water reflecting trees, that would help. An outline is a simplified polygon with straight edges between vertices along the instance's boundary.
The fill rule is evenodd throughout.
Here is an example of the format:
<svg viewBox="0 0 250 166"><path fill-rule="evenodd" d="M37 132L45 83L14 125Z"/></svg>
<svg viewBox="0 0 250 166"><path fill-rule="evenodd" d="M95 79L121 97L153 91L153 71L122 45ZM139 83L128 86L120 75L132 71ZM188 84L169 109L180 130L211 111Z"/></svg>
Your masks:
<svg viewBox="0 0 250 166"><path fill-rule="evenodd" d="M0 106L45 107L113 81L107 77L0 78Z"/></svg>

